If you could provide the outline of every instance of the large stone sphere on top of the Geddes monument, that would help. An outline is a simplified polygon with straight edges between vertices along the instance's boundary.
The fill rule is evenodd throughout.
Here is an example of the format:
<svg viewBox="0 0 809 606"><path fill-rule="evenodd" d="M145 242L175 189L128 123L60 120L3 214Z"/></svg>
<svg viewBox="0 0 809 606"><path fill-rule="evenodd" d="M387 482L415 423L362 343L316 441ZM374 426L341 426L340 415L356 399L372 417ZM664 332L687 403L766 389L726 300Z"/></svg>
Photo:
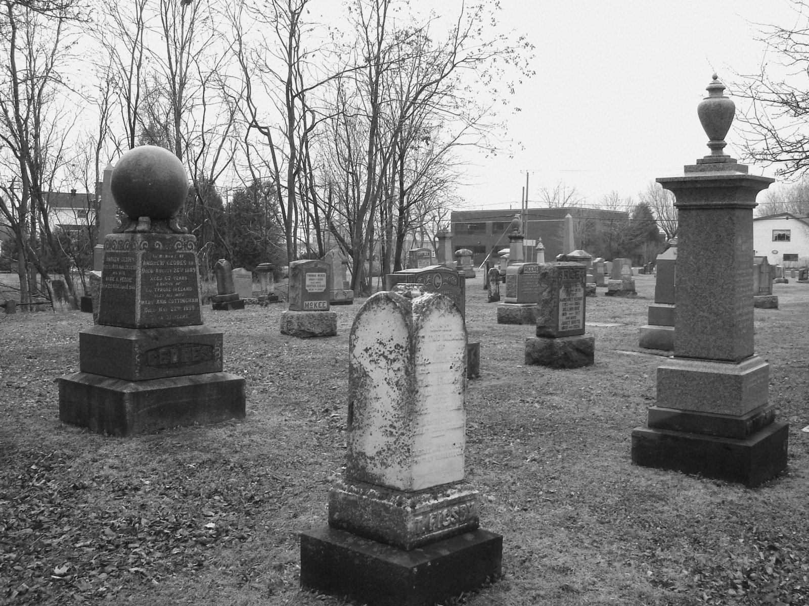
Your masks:
<svg viewBox="0 0 809 606"><path fill-rule="evenodd" d="M157 145L141 145L121 155L110 185L116 204L132 219L168 219L188 196L183 163Z"/></svg>

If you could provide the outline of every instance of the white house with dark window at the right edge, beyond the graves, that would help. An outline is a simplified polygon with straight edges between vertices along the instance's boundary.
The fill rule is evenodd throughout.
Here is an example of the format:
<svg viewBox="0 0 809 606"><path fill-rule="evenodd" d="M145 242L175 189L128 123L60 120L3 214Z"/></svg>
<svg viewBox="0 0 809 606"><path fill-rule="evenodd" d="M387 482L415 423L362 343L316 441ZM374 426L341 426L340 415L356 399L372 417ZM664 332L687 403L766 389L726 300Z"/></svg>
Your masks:
<svg viewBox="0 0 809 606"><path fill-rule="evenodd" d="M809 266L809 220L791 213L753 219L754 255L766 256L771 265Z"/></svg>

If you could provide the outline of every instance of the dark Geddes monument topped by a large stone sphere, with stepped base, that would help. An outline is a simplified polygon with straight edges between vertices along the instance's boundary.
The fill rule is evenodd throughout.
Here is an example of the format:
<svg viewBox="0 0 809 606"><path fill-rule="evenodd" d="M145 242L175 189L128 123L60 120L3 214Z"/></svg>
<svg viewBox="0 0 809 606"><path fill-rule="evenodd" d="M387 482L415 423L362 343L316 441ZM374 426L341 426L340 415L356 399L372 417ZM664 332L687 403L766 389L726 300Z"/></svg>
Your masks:
<svg viewBox="0 0 809 606"><path fill-rule="evenodd" d="M197 238L177 225L188 195L166 149L125 152L112 174L128 217L104 239L99 323L59 379L59 418L115 436L244 418L244 379L222 372L222 333L202 325Z"/></svg>

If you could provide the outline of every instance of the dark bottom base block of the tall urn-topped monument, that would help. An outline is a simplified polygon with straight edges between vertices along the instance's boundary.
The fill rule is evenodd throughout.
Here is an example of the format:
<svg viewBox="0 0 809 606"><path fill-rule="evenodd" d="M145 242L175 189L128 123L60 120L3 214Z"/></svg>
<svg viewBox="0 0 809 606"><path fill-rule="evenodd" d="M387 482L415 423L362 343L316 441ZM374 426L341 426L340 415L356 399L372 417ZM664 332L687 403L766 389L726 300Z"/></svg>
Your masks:
<svg viewBox="0 0 809 606"><path fill-rule="evenodd" d="M643 467L700 473L750 488L786 469L787 423L770 423L744 440L636 427L632 461Z"/></svg>

